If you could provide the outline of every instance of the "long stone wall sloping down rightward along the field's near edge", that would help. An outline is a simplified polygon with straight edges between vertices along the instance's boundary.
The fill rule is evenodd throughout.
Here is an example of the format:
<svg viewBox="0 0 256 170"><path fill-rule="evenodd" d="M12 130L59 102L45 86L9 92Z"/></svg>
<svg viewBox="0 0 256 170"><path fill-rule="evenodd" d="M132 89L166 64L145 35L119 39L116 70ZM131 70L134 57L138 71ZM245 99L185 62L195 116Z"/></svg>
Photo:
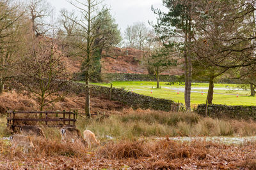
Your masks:
<svg viewBox="0 0 256 170"><path fill-rule="evenodd" d="M84 93L84 84L76 82L68 82L67 87L63 90L68 90L72 93ZM97 85L90 86L91 96L104 96L109 97L110 88ZM133 92L128 92L123 89L112 89L112 99L120 101L134 109L152 109L163 111L178 111L183 110L184 106L181 103L175 103L174 101L167 99L157 99L150 96L143 96Z"/></svg>

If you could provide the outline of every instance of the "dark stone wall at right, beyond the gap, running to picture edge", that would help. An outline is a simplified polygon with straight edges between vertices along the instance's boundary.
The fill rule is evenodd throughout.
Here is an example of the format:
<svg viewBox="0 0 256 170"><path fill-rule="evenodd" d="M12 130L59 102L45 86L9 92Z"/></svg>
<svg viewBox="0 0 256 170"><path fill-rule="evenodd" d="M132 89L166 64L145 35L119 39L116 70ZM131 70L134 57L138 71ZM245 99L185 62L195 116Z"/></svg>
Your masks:
<svg viewBox="0 0 256 170"><path fill-rule="evenodd" d="M205 104L199 104L196 112L205 116ZM210 117L230 117L256 120L256 106L227 106L221 104L209 104Z"/></svg>

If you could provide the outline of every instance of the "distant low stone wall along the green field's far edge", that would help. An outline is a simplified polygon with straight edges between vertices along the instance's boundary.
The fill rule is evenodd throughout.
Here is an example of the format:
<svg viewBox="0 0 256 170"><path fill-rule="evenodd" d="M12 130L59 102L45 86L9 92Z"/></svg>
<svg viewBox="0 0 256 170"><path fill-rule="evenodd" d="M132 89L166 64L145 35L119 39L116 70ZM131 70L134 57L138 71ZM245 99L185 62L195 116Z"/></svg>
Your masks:
<svg viewBox="0 0 256 170"><path fill-rule="evenodd" d="M103 73L102 80L109 81L156 81L155 75L150 74L128 74L128 73ZM179 81L180 76L159 75L159 80L164 82Z"/></svg>

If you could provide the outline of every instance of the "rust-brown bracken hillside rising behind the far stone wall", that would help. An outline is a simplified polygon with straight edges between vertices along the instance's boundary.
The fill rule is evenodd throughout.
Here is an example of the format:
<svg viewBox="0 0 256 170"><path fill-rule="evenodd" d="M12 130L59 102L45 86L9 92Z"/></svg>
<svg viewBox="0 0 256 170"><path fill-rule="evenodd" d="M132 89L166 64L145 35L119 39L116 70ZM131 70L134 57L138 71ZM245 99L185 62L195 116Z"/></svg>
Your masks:
<svg viewBox="0 0 256 170"><path fill-rule="evenodd" d="M142 65L141 61L145 53L133 48L113 47L108 52L102 53L102 73L134 73L148 74L147 68ZM77 73L80 71L81 59L74 57L65 57L68 71ZM182 74L182 69L173 67L162 74L177 75Z"/></svg>

